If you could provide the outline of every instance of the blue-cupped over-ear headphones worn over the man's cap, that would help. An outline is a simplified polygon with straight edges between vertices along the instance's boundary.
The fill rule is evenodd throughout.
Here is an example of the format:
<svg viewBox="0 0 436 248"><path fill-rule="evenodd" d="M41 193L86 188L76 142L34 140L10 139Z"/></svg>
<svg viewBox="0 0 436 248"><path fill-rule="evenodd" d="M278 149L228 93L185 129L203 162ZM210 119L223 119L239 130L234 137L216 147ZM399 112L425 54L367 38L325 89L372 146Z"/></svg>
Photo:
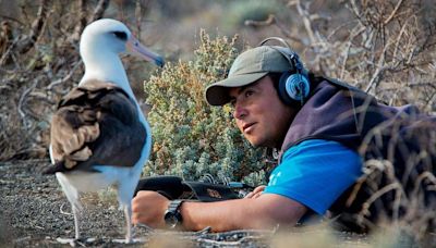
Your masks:
<svg viewBox="0 0 436 248"><path fill-rule="evenodd" d="M304 100L307 98L311 91L311 84L307 79L306 72L303 63L300 61L299 55L294 52L284 39L279 37L269 37L264 39L258 47L264 46L268 41L279 41L284 45L283 47L269 46L276 51L280 52L291 65L291 71L281 74L278 86L278 94L280 99L287 103L292 104L295 101L304 104Z"/></svg>

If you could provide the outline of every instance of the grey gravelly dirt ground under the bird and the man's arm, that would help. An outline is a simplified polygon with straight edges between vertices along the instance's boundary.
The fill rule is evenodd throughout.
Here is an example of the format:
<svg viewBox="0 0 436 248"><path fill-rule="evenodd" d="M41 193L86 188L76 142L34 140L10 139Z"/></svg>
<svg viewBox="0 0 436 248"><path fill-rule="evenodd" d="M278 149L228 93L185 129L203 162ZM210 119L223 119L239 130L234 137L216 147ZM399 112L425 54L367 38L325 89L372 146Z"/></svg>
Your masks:
<svg viewBox="0 0 436 248"><path fill-rule="evenodd" d="M57 238L74 236L71 207L55 176L40 172L49 166L48 160L13 161L0 163L0 247L69 247ZM271 231L238 231L213 234L177 233L135 228L137 243L120 245L113 239L124 236L124 218L118 210L110 190L83 197L85 206L82 234L90 241L77 244L86 247L269 247ZM323 241L332 241L325 235L315 235ZM339 235L341 247L367 247L365 237ZM295 240L295 239L294 239ZM312 240L313 241L313 240ZM319 243L320 241L320 243ZM306 241L304 241L305 244ZM337 240L334 240L337 244ZM334 244L332 243L332 244ZM276 243L277 245L277 243ZM282 241L278 247L288 247ZM277 247L277 246L276 246ZM314 247L314 246L312 246ZM318 247L318 246L315 246Z"/></svg>

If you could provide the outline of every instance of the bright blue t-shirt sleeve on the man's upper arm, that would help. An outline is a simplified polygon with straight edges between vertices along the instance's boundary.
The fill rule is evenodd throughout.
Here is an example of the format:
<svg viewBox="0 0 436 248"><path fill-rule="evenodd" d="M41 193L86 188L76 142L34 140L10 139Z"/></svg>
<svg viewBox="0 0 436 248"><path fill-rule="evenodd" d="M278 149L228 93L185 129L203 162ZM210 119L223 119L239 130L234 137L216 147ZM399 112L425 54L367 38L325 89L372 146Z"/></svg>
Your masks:
<svg viewBox="0 0 436 248"><path fill-rule="evenodd" d="M318 214L362 174L362 159L337 141L305 140L288 149L269 176L265 194L293 199Z"/></svg>

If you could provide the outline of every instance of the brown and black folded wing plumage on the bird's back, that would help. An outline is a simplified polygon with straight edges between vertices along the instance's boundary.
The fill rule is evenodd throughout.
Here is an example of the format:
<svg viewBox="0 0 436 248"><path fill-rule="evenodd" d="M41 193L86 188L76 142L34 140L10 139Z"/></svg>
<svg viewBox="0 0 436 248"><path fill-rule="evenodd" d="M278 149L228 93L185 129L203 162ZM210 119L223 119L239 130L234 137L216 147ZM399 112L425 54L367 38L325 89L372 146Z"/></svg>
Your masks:
<svg viewBox="0 0 436 248"><path fill-rule="evenodd" d="M145 142L134 101L111 83L90 80L63 97L51 121L49 173L93 165L133 166Z"/></svg>

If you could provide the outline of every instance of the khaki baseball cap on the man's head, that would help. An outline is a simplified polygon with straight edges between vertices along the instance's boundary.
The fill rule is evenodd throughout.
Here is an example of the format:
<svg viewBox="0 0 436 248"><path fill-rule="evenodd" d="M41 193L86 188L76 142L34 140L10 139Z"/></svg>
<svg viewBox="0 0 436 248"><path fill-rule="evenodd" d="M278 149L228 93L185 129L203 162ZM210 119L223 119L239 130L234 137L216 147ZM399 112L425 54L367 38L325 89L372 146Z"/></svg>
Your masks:
<svg viewBox="0 0 436 248"><path fill-rule="evenodd" d="M206 88L206 101L210 106L223 106L230 101L230 88L250 85L271 72L293 71L290 61L279 50L288 54L292 52L289 48L261 46L241 53L230 67L228 77Z"/></svg>

